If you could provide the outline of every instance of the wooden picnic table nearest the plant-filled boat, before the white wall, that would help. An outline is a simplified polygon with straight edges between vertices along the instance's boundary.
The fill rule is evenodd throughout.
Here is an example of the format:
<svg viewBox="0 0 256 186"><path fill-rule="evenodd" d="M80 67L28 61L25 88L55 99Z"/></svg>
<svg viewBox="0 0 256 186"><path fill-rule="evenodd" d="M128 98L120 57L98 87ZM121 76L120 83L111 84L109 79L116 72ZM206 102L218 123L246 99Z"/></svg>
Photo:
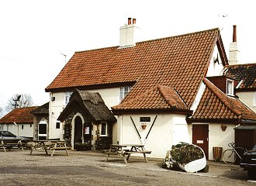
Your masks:
<svg viewBox="0 0 256 186"><path fill-rule="evenodd" d="M110 149L106 151L107 157L105 161L109 159L110 155L121 155L124 163L127 164L130 155L133 153L143 153L144 160L147 162L146 153L151 153L151 151L145 150L144 145L141 144L112 144L110 145Z"/></svg>

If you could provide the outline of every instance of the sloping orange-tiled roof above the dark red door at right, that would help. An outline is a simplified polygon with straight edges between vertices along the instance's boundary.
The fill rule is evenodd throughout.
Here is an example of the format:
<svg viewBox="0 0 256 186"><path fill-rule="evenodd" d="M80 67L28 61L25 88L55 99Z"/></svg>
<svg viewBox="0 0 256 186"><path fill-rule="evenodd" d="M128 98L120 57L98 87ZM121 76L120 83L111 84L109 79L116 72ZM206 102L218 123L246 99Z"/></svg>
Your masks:
<svg viewBox="0 0 256 186"><path fill-rule="evenodd" d="M241 120L256 121L256 113L247 108L239 99L225 95L219 88L206 78L203 80L206 89L203 92L199 106L188 120L206 122L214 119L220 122L241 122ZM213 121L213 120L212 120Z"/></svg>

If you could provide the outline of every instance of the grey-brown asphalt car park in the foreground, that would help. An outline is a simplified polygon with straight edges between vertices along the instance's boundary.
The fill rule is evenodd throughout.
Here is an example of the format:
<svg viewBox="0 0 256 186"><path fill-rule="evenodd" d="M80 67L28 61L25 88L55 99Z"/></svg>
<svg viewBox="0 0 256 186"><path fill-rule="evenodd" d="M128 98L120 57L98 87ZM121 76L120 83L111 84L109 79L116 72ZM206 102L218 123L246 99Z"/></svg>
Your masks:
<svg viewBox="0 0 256 186"><path fill-rule="evenodd" d="M100 151L70 150L69 156L54 157L35 150L0 151L1 185L255 185L239 165L208 161L207 173L171 171L161 167L161 159L111 157Z"/></svg>

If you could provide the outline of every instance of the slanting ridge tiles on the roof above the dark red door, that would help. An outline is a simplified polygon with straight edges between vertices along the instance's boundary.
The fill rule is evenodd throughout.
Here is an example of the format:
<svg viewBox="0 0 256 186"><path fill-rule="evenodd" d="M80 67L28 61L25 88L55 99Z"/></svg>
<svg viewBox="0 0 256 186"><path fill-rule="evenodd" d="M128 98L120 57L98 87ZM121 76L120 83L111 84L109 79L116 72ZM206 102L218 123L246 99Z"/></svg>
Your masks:
<svg viewBox="0 0 256 186"><path fill-rule="evenodd" d="M223 102L223 104L225 106L227 106L227 108L230 109L230 111L234 112L235 114L237 114L238 116L242 115L242 112L240 112L240 110L238 110L237 108L231 107L230 106L230 102L226 101L226 99L224 99L222 96L220 96L220 94L223 94L227 99L231 99L230 97L228 97L227 95L225 95L222 91L220 91L219 88L217 88L215 86L215 84L213 84L212 82L210 82L207 78L203 78L203 82L206 84L207 88L209 88L214 95L216 95L217 98L220 99L220 102ZM216 88L216 89L213 89ZM216 92L217 91L217 92ZM236 99L237 100L237 99Z"/></svg>

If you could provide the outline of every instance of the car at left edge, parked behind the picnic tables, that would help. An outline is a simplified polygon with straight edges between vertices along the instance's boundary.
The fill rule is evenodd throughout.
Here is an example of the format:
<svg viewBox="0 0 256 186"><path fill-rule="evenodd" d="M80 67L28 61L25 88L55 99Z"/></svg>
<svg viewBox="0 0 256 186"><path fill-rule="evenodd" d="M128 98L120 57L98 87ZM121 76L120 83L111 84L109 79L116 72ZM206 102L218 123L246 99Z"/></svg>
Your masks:
<svg viewBox="0 0 256 186"><path fill-rule="evenodd" d="M19 141L21 143L28 143L30 141L29 138L16 136L5 130L0 130L0 140L3 140L4 143L18 143Z"/></svg>

